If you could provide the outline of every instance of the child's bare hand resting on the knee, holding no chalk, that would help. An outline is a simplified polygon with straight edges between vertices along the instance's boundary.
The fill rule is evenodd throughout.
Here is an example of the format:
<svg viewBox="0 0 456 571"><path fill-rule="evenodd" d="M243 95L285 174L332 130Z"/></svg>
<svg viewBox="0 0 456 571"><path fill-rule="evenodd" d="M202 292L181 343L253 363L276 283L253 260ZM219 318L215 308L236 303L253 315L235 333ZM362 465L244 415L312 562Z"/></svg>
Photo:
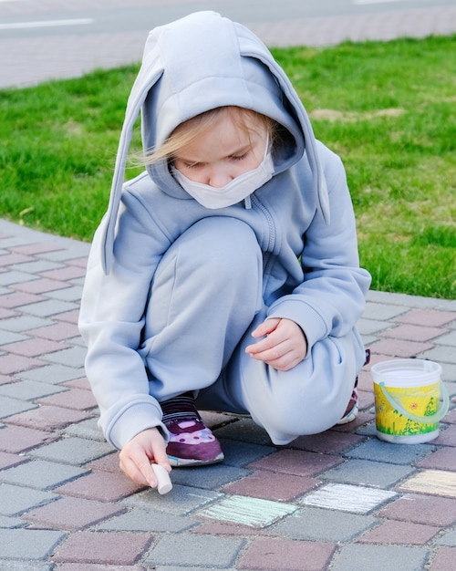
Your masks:
<svg viewBox="0 0 456 571"><path fill-rule="evenodd" d="M264 337L245 348L251 357L277 370L293 369L307 353L304 331L291 319L266 319L256 327L253 337Z"/></svg>

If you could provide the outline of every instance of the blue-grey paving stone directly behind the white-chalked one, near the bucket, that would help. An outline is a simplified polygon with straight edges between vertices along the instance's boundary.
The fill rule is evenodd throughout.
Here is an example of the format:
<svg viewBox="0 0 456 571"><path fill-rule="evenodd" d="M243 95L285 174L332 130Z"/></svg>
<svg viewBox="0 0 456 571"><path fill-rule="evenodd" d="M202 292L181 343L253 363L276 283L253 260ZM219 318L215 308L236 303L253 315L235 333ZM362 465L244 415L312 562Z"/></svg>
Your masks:
<svg viewBox="0 0 456 571"><path fill-rule="evenodd" d="M354 459L327 470L320 477L331 482L390 488L413 472L410 466Z"/></svg>

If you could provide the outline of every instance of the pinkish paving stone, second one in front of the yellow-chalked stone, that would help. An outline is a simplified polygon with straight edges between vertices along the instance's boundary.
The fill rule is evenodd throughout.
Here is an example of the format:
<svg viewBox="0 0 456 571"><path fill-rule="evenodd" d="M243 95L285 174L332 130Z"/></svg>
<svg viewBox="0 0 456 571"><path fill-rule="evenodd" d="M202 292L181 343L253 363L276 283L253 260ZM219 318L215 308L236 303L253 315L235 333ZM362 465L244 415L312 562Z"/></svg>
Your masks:
<svg viewBox="0 0 456 571"><path fill-rule="evenodd" d="M364 544L425 545L440 532L440 527L410 524L409 522L383 522L358 538Z"/></svg>

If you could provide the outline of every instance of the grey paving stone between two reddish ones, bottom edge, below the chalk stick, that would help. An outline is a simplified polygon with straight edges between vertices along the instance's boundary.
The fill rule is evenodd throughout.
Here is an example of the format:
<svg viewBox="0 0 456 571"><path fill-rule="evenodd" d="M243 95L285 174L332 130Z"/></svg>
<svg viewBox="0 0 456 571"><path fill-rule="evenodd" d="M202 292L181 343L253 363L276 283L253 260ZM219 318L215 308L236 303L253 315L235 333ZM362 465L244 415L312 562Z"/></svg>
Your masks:
<svg viewBox="0 0 456 571"><path fill-rule="evenodd" d="M164 535L144 559L150 565L213 566L233 565L244 545L243 539L204 535Z"/></svg>

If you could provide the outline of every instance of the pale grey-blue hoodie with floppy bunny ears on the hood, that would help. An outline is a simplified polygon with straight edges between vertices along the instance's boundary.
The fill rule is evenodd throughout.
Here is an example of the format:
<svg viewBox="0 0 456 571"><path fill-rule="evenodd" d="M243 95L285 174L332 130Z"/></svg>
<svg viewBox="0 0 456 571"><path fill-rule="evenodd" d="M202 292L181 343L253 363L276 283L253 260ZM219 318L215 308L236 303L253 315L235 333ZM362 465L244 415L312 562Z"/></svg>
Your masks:
<svg viewBox="0 0 456 571"><path fill-rule="evenodd" d="M285 128L274 148L274 176L254 192L252 208L206 210L174 180L167 161L124 183L139 113L147 150L160 147L182 121L227 105L254 109ZM264 212L262 224L255 209ZM218 14L200 12L150 32L121 131L108 212L88 263L79 322L88 343L86 369L101 426L118 448L160 425L157 399L166 397L149 394L148 358L138 350L150 281L176 238L209 215L252 226L264 251L269 317L295 320L309 348L355 326L369 276L358 266L342 164L315 139L295 89L258 37Z"/></svg>

